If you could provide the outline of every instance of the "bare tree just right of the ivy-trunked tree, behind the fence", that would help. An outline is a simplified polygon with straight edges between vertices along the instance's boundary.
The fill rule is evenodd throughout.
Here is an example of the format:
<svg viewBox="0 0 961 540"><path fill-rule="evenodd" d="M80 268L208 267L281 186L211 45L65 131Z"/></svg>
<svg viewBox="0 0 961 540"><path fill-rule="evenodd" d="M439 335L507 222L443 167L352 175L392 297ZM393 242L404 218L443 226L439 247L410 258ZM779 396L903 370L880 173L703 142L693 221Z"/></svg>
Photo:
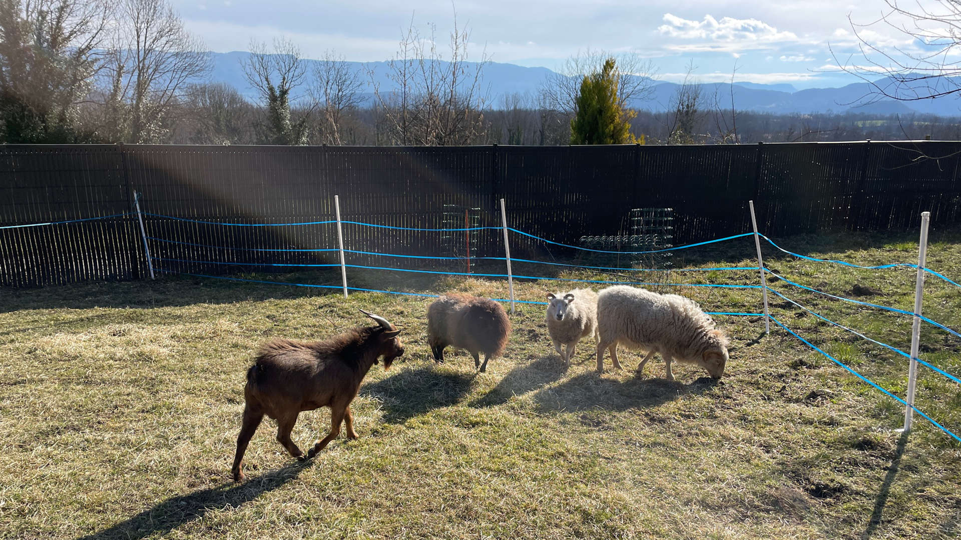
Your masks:
<svg viewBox="0 0 961 540"><path fill-rule="evenodd" d="M322 142L341 144L341 122L345 114L360 105L363 77L342 56L326 51L314 65L313 85L310 96L321 113L320 136Z"/></svg>

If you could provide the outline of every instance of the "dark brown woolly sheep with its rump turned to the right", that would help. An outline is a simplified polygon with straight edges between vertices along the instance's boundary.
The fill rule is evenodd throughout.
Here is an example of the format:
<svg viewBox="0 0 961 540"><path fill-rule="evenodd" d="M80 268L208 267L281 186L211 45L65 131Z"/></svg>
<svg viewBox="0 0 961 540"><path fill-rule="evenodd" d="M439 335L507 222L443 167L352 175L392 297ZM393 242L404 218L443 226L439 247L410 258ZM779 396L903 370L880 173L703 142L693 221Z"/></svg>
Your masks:
<svg viewBox="0 0 961 540"><path fill-rule="evenodd" d="M487 370L487 360L504 353L510 320L504 307L469 294L446 294L427 310L428 341L433 359L444 361L444 348L466 349L474 356L474 367ZM480 363L479 353L484 354Z"/></svg>

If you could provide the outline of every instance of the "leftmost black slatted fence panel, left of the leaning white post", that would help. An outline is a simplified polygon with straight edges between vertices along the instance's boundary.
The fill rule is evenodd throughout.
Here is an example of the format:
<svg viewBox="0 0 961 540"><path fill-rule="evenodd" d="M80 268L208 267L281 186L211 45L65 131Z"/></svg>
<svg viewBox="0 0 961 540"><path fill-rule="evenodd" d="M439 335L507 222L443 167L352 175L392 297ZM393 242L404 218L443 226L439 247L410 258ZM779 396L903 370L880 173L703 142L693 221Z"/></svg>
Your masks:
<svg viewBox="0 0 961 540"><path fill-rule="evenodd" d="M130 190L114 145L5 146L0 157L0 283L36 286L139 276Z"/></svg>

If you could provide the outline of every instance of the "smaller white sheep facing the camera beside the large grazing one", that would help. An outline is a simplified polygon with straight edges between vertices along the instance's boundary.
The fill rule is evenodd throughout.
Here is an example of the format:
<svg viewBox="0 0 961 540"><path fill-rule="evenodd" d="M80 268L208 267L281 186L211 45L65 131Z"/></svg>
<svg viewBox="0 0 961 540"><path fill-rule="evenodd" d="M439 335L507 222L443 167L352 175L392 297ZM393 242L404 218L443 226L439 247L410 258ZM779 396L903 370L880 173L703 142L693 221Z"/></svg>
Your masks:
<svg viewBox="0 0 961 540"><path fill-rule="evenodd" d="M571 356L581 337L593 335L598 338L598 294L591 289L574 289L568 293L547 293L547 330L554 341L554 349L564 363L571 365ZM567 352L560 350L567 346Z"/></svg>

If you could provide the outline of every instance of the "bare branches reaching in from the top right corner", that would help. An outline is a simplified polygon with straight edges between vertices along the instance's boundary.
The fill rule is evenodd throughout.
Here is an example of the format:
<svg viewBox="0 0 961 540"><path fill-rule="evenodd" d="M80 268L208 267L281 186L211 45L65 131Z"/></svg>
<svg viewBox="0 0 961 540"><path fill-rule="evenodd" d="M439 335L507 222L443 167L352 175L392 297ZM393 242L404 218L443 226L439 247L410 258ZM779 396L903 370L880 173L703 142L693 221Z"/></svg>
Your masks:
<svg viewBox="0 0 961 540"><path fill-rule="evenodd" d="M880 99L918 101L961 91L961 1L884 0L887 10L875 21L850 21L858 39L857 53L839 59L841 69L871 85L865 102ZM891 28L908 38L900 47L885 47L871 27ZM861 62L863 60L863 63Z"/></svg>

